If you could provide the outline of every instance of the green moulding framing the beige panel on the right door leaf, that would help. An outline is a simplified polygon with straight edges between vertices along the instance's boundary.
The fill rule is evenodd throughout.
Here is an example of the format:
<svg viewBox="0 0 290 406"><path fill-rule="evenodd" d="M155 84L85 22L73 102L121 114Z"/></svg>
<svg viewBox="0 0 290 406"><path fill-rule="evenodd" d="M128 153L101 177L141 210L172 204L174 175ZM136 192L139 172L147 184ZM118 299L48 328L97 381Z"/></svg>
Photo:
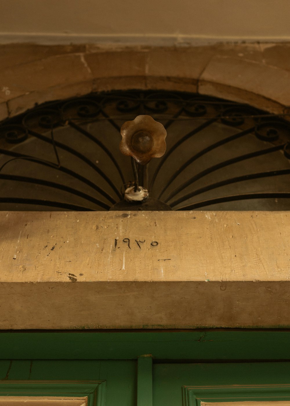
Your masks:
<svg viewBox="0 0 290 406"><path fill-rule="evenodd" d="M219 385L183 386L183 406L201 406L201 402L263 402L290 400L290 385ZM213 405L214 406L214 405ZM273 405L274 406L274 405Z"/></svg>

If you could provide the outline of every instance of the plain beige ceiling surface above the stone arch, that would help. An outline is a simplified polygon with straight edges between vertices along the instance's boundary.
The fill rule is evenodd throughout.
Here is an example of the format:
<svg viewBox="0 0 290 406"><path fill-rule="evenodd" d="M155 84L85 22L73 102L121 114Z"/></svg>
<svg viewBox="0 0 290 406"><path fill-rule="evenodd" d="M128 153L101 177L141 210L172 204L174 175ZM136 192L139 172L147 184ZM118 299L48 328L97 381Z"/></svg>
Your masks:
<svg viewBox="0 0 290 406"><path fill-rule="evenodd" d="M289 41L290 0L0 0L0 42Z"/></svg>

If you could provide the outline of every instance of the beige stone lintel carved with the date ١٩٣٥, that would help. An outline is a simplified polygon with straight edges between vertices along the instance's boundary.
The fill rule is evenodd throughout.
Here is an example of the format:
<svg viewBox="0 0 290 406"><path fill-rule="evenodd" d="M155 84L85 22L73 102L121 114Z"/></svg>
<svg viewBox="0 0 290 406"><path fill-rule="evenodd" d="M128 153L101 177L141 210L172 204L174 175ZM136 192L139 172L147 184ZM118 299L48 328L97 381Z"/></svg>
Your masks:
<svg viewBox="0 0 290 406"><path fill-rule="evenodd" d="M1 212L0 328L289 327L289 226L289 212Z"/></svg>

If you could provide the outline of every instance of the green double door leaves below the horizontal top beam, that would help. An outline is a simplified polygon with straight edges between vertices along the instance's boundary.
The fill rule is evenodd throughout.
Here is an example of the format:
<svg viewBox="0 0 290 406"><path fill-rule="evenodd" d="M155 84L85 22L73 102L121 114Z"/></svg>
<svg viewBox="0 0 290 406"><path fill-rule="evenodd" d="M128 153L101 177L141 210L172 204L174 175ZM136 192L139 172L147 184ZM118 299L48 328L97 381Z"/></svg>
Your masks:
<svg viewBox="0 0 290 406"><path fill-rule="evenodd" d="M267 400L290 405L289 362L162 363L145 356L138 361L13 360L1 361L0 366L1 395L74 395L88 391L88 384L104 384L92 405L202 406ZM46 383L48 391L43 389ZM83 391L77 389L82 385ZM20 388L16 393L15 387Z"/></svg>

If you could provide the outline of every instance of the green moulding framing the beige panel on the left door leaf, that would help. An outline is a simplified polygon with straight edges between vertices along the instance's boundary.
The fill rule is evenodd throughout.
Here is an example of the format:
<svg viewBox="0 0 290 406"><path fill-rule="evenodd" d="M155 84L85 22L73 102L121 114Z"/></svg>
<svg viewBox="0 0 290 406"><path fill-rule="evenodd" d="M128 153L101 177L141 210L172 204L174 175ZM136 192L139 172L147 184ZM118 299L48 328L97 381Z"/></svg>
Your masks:
<svg viewBox="0 0 290 406"><path fill-rule="evenodd" d="M87 406L105 405L106 381L2 380L1 396L87 397Z"/></svg>

